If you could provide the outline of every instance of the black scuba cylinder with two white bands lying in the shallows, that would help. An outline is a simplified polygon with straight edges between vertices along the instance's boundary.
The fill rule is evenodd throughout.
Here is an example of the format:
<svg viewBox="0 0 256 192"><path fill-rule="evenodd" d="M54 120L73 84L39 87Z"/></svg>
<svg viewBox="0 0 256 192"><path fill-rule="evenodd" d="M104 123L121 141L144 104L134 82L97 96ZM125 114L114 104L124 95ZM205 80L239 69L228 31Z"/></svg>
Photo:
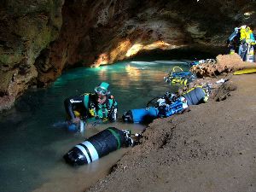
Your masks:
<svg viewBox="0 0 256 192"><path fill-rule="evenodd" d="M108 127L108 129L73 147L63 158L73 166L90 164L92 161L119 149L124 143L124 132L115 127Z"/></svg>

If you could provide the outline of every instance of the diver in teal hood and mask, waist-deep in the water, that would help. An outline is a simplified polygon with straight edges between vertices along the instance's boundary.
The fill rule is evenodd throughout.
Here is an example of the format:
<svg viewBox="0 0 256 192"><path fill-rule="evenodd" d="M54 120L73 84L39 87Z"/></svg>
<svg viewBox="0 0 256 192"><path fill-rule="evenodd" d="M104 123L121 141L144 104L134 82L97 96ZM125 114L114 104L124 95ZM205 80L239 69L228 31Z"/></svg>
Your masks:
<svg viewBox="0 0 256 192"><path fill-rule="evenodd" d="M117 119L118 104L110 95L109 84L106 82L96 86L95 93L67 98L64 106L74 124L86 119L100 119L102 122L113 122Z"/></svg>

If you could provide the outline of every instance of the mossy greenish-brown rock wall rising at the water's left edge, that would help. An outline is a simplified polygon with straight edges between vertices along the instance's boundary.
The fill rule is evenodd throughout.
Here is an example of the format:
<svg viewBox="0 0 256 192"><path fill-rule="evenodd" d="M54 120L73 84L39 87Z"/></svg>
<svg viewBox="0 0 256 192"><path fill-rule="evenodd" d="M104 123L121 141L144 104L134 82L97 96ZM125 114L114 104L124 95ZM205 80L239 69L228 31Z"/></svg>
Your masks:
<svg viewBox="0 0 256 192"><path fill-rule="evenodd" d="M3 0L0 7L0 111L36 84L34 63L58 37L63 1Z"/></svg>

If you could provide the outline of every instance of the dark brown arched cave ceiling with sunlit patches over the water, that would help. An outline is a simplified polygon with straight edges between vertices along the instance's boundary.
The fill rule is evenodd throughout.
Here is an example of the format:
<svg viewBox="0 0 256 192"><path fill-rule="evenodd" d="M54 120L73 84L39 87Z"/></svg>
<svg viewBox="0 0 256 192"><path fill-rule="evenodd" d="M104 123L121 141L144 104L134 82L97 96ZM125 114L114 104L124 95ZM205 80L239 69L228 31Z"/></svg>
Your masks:
<svg viewBox="0 0 256 192"><path fill-rule="evenodd" d="M73 0L62 8L59 38L38 57L38 81L66 67L97 67L151 49L224 47L252 1Z"/></svg>

